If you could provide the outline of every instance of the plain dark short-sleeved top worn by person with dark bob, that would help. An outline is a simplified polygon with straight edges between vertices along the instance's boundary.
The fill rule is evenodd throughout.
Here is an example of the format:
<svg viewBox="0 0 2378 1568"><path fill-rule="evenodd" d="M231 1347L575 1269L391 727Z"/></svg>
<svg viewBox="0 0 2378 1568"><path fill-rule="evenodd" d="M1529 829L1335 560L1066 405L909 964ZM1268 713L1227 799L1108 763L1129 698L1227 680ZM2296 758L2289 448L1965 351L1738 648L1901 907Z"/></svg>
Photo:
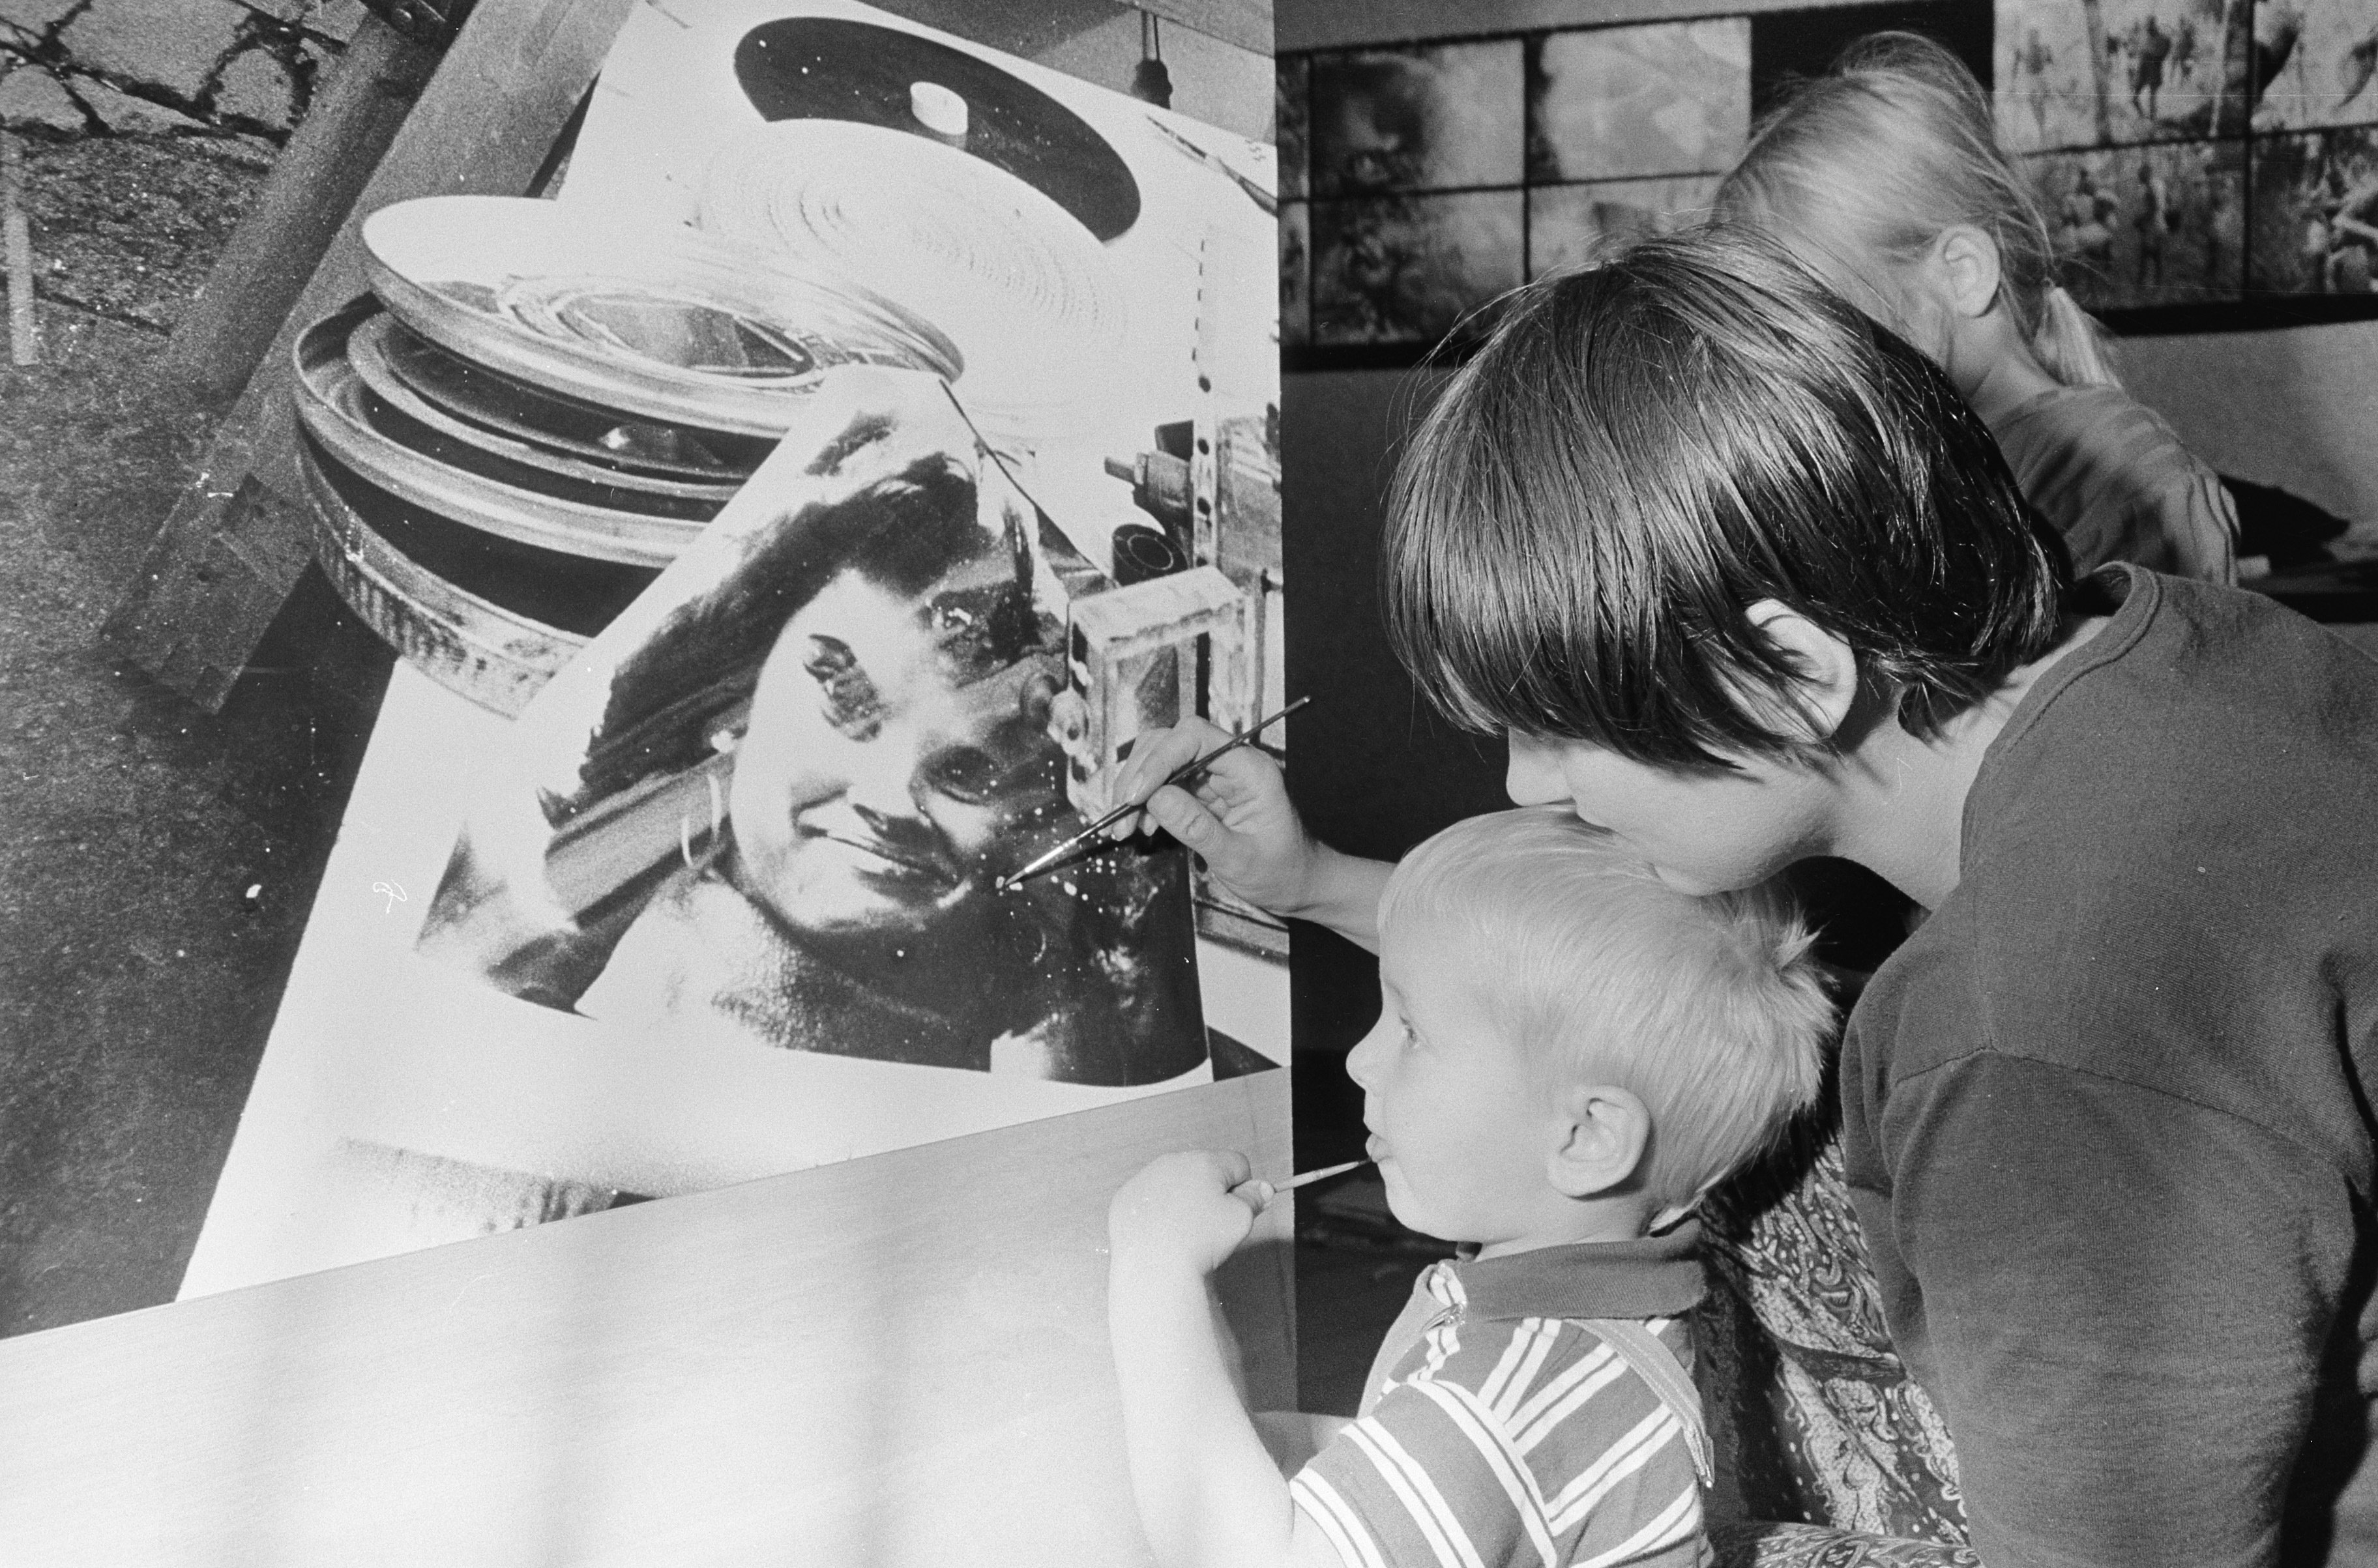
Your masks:
<svg viewBox="0 0 2378 1568"><path fill-rule="evenodd" d="M2378 1563L2378 660L2090 594L1850 1019L1891 1335L1990 1568Z"/></svg>

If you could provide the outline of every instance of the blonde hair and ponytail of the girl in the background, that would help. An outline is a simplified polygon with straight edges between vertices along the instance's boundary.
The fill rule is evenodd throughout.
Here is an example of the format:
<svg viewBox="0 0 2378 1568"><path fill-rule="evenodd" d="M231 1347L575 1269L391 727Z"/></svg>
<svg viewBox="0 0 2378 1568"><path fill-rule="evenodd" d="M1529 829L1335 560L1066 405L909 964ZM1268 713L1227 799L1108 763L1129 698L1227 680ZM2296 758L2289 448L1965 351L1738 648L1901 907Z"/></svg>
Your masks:
<svg viewBox="0 0 2378 1568"><path fill-rule="evenodd" d="M2066 387L2121 385L2105 328L2057 283L2047 216L1998 145L1990 97L1931 38L1874 33L1800 83L1760 121L1715 204L1860 278L1862 261L1910 261L1948 228L1978 228L2040 366Z"/></svg>

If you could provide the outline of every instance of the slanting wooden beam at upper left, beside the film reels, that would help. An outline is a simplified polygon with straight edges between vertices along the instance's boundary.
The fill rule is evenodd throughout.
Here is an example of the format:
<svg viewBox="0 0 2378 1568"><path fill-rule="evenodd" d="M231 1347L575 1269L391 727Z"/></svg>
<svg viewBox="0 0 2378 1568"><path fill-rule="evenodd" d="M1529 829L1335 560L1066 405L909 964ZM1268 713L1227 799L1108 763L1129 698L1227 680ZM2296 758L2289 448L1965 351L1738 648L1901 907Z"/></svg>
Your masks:
<svg viewBox="0 0 2378 1568"><path fill-rule="evenodd" d="M364 219L423 195L528 190L633 2L476 7L388 145L107 622L126 656L200 708L212 713L231 696L312 558L292 447L290 344L364 292ZM209 290L221 287L240 280L219 271Z"/></svg>

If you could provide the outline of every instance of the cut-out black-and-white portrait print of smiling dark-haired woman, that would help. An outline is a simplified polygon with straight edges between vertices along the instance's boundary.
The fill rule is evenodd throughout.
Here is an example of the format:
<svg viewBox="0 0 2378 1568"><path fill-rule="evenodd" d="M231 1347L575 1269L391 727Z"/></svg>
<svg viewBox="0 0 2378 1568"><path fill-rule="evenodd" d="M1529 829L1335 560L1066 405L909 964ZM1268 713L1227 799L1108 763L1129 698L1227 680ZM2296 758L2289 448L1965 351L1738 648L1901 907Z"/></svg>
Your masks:
<svg viewBox="0 0 2378 1568"><path fill-rule="evenodd" d="M1080 827L1063 622L949 418L935 390L825 442L618 658L533 853L464 836L423 950L663 1036L1115 1086L1206 1060L1182 855L996 886Z"/></svg>

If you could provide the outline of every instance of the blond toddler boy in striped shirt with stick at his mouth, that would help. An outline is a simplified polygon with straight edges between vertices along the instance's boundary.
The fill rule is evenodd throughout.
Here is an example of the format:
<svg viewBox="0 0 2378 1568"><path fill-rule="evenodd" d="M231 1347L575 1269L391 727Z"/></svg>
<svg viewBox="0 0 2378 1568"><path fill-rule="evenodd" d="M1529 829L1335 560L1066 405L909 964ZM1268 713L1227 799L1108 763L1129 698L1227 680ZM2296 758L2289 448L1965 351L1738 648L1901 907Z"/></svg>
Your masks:
<svg viewBox="0 0 2378 1568"><path fill-rule="evenodd" d="M1379 1024L1346 1069L1396 1219L1460 1257L1415 1283L1358 1418L1258 1428L1206 1281L1270 1188L1191 1152L1115 1193L1108 1311L1158 1563L1703 1563L1691 1209L1817 1100L1833 1005L1807 931L1539 808L1415 848L1379 938Z"/></svg>

